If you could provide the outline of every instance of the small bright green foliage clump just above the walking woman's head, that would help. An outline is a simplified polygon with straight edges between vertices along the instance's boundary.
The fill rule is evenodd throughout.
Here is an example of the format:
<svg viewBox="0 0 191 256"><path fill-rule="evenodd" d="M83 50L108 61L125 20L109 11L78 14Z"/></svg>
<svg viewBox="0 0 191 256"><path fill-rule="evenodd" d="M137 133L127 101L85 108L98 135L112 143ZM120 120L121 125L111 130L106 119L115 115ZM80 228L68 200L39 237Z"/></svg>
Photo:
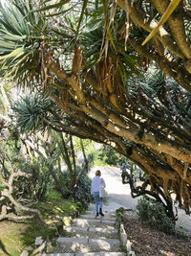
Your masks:
<svg viewBox="0 0 191 256"><path fill-rule="evenodd" d="M121 155L112 147L103 145L98 152L98 159L108 165L120 165Z"/></svg>

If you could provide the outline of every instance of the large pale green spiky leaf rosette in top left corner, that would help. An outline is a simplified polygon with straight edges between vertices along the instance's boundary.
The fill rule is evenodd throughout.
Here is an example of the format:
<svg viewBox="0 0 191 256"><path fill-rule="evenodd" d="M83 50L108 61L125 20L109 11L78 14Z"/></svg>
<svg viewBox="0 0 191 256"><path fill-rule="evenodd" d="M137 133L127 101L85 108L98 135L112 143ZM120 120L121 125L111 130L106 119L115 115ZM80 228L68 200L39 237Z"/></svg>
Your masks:
<svg viewBox="0 0 191 256"><path fill-rule="evenodd" d="M0 77L30 85L41 71L40 45L46 21L30 0L0 1Z"/></svg>

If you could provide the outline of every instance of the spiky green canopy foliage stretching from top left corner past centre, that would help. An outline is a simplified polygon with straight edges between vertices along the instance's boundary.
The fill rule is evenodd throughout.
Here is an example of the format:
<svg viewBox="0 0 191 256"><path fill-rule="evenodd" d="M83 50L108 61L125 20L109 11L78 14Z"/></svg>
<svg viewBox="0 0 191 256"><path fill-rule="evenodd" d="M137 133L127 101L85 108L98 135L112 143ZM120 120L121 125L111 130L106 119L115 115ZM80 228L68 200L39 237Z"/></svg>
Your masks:
<svg viewBox="0 0 191 256"><path fill-rule="evenodd" d="M117 8L116 14L109 20L104 12L109 14L111 10L104 11L101 3L94 9L88 2L67 0L53 5L48 3L47 6L47 1L39 4L31 0L8 0L5 7L0 5L1 76L11 77L18 84L31 87L36 86L36 81L38 85L44 80L49 83L47 78L51 78L45 71L44 61L46 51L52 48L57 58L62 57L63 66L71 68L72 50L77 42L84 49L89 67L103 58L104 52L105 56L110 55L117 62L117 73L124 84L138 66L136 56L121 51L124 38L120 35L126 19L125 12ZM79 12L75 12L76 8ZM56 12L62 14L60 19L59 16L52 18ZM60 21L62 26L58 26Z"/></svg>

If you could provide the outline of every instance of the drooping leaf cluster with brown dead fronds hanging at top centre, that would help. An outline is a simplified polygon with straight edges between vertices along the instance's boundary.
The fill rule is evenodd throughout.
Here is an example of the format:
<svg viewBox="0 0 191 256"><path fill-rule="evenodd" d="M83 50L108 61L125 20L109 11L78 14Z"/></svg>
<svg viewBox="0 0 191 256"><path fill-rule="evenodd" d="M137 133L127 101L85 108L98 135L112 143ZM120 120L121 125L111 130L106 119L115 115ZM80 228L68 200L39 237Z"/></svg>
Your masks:
<svg viewBox="0 0 191 256"><path fill-rule="evenodd" d="M126 81L133 73L137 73L138 61L132 49L125 51L125 37L121 26L125 24L125 12L117 8L111 26L104 22L103 6L99 6L94 14L90 15L79 35L79 43L84 49L86 58L85 67L96 70L96 79L104 91L106 84L112 82L115 92L122 92ZM109 10L108 12L111 12ZM93 72L94 73L94 72ZM110 81L106 79L110 75ZM115 85L114 85L115 84ZM124 86L125 85L125 86Z"/></svg>

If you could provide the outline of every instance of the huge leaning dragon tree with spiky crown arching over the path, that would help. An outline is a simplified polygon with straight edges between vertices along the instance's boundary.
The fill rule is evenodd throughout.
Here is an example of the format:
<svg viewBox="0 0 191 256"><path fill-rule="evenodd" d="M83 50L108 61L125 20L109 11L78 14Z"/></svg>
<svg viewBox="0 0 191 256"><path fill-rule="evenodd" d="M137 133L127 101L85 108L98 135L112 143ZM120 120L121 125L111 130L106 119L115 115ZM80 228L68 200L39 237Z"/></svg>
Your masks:
<svg viewBox="0 0 191 256"><path fill-rule="evenodd" d="M47 1L41 9L37 1L8 1L0 15L0 75L48 92L59 111L37 115L44 123L110 145L189 213L190 4L181 2L141 46L168 1L125 2L60 1L54 15Z"/></svg>

